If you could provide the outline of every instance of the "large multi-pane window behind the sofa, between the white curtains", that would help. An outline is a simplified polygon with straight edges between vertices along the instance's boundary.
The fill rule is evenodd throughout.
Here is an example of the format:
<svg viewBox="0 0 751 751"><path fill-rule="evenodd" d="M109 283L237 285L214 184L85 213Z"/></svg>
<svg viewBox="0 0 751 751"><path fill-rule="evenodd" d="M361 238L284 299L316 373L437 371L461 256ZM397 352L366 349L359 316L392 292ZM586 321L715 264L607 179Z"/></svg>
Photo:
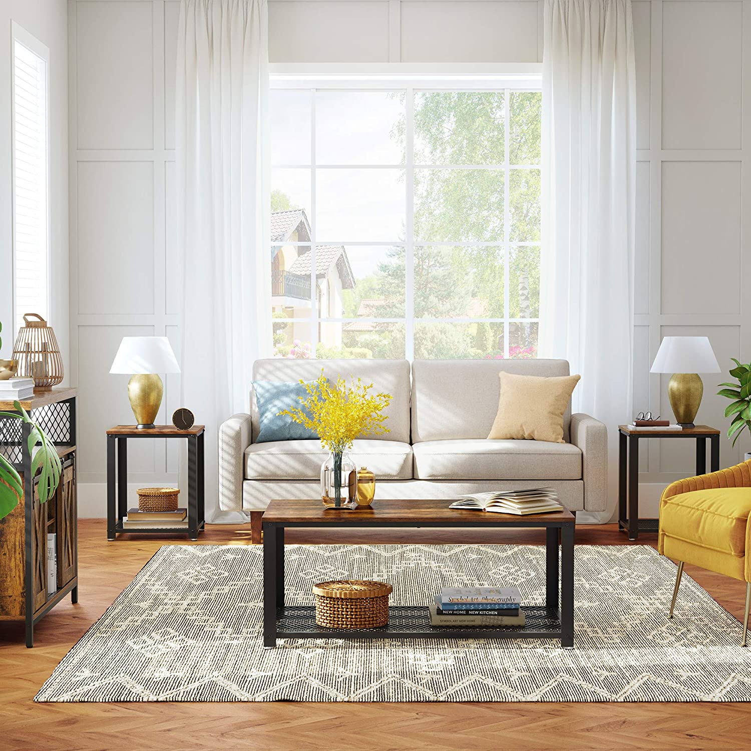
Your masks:
<svg viewBox="0 0 751 751"><path fill-rule="evenodd" d="M275 354L536 357L540 92L351 83L272 91Z"/></svg>

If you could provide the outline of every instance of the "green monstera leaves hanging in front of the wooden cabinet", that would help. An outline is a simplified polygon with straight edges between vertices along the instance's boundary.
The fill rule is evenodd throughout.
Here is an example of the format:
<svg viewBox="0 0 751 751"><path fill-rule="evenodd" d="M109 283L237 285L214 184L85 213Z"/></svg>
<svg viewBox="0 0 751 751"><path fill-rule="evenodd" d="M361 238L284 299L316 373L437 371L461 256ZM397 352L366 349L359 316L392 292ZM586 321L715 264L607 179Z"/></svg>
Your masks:
<svg viewBox="0 0 751 751"><path fill-rule="evenodd" d="M26 445L32 456L32 477L39 472L39 500L46 503L57 490L62 472L62 463L44 430L36 424L18 402L14 402L18 412L0 412L0 417L19 420L31 426ZM23 483L16 468L8 458L0 454L0 519L7 517L23 498Z"/></svg>

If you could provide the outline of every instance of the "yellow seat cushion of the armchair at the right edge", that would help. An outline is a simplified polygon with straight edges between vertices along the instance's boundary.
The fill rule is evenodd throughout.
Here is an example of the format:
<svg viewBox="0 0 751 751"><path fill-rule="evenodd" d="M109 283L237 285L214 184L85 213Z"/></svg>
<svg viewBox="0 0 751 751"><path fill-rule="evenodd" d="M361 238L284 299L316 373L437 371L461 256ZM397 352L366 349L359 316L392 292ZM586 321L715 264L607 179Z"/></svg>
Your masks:
<svg viewBox="0 0 751 751"><path fill-rule="evenodd" d="M692 490L662 500L660 532L709 550L743 556L749 513L751 489L747 487Z"/></svg>

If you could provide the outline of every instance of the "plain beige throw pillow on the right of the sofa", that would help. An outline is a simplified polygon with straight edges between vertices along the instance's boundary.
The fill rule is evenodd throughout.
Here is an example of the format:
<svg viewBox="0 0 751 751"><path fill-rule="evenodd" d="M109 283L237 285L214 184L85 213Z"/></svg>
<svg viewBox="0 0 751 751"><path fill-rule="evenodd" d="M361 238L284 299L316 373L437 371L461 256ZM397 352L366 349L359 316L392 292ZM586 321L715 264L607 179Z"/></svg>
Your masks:
<svg viewBox="0 0 751 751"><path fill-rule="evenodd" d="M489 439L563 440L563 413L581 375L498 374L501 396Z"/></svg>

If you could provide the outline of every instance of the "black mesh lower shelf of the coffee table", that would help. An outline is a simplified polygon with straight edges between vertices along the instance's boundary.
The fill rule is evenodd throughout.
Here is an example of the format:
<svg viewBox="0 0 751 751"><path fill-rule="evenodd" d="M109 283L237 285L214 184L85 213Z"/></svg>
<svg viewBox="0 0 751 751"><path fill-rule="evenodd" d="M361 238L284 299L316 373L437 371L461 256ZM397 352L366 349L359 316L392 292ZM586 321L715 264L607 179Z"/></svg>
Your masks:
<svg viewBox="0 0 751 751"><path fill-rule="evenodd" d="M388 626L378 629L328 629L315 623L314 605L286 605L276 610L276 638L279 639L559 639L560 614L544 605L522 605L524 626L431 626L430 608L424 605L392 605Z"/></svg>

